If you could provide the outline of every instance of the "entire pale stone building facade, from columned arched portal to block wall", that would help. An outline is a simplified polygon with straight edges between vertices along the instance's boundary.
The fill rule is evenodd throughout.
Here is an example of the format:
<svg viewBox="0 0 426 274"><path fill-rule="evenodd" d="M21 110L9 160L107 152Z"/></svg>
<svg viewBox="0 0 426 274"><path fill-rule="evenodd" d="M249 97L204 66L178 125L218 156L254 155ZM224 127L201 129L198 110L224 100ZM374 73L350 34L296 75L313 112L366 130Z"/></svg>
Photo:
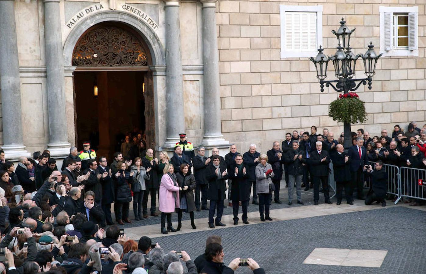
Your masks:
<svg viewBox="0 0 426 274"><path fill-rule="evenodd" d="M256 143L258 151L266 151L274 140L283 140L286 132L308 130L311 125L318 126L319 130L327 127L337 136L343 131L343 126L327 116L328 103L337 97L337 93L329 88L320 92L314 66L308 58L280 59L280 3L323 6L323 47L328 55L335 51L337 40L331 30L337 29L340 17L345 17L348 26L357 28L351 39L355 53L365 52L370 40L378 52L379 7L417 6L418 56L382 57L379 60L372 90L360 88L357 91L366 101L368 121L365 125L354 126L352 130L363 127L373 136L380 133L380 128L391 131L395 123L406 127L409 121L416 120L420 126L423 125L426 111L426 15L423 1L339 2L342 1L15 0L13 21L20 82L17 92L20 94L23 132L22 144L18 145L32 152L43 150L48 145L51 149L58 147L66 151L67 146L75 144L72 77L75 67L71 63L71 54L84 31L96 23L108 21L131 26L144 37L150 48L157 150L177 141L175 134L180 131L186 131L188 140L196 145L220 145L224 151L227 141L236 143L239 151L246 151L250 143ZM141 17L141 14L126 9L125 5L142 11L146 16ZM11 6L7 7L10 11ZM216 22L210 14L212 8L216 9ZM166 16L167 9L175 21ZM1 10L0 15L5 11ZM52 16L58 15L58 12L59 17ZM83 16L78 18L81 13ZM168 18L173 22L167 21ZM46 28L45 24L52 20L59 20L60 28ZM180 35L167 36L167 30L177 33L176 29L167 29L176 21L180 25ZM212 23L216 25L217 43L213 45L217 44L218 55L211 47L216 39ZM63 77L64 81L57 86L49 82L46 74L46 67L48 72L58 70L49 66L49 58L59 58L58 51L46 51L56 49L55 43L52 43L55 35L46 35L47 29L53 29L55 35L60 31L58 37L61 37L63 45L63 74L55 77ZM180 53L173 55L181 59L180 63L167 62L166 57L172 56L167 53L167 40L170 42L170 39L178 45L173 54L180 48ZM47 55L49 58L46 58ZM363 65L359 64L358 69L363 69ZM203 75L203 71L208 73ZM181 77L182 85L176 79L170 82L167 73L169 77L172 74ZM357 74L363 77L363 71L357 71ZM334 78L331 70L328 75L328 79ZM49 85L53 89L49 90ZM63 96L56 93L58 89ZM4 90L2 95L8 92ZM171 93L181 97L183 103L173 104ZM207 100L204 101L205 98ZM60 101L59 109L52 107L55 100ZM180 123L173 128L167 126L175 119L173 115L180 113L185 113L185 118L178 120ZM2 115L13 115L13 112L2 111ZM6 132L3 130L3 118L0 119L0 144L4 143L3 132ZM52 122L52 119L58 121ZM8 128L14 123L18 122L9 122ZM52 128L63 130L55 134ZM80 145L77 144L78 148Z"/></svg>

